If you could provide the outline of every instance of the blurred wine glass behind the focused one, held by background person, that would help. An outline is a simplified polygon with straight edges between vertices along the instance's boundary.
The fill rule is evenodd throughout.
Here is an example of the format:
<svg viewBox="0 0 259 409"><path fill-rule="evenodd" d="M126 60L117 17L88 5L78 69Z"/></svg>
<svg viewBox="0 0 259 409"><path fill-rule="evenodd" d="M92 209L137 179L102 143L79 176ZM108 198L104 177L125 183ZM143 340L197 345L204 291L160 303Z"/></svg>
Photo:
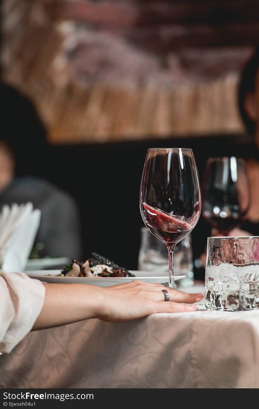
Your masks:
<svg viewBox="0 0 259 409"><path fill-rule="evenodd" d="M228 236L246 219L250 189L243 159L216 157L207 161L203 178L202 214L215 236Z"/></svg>

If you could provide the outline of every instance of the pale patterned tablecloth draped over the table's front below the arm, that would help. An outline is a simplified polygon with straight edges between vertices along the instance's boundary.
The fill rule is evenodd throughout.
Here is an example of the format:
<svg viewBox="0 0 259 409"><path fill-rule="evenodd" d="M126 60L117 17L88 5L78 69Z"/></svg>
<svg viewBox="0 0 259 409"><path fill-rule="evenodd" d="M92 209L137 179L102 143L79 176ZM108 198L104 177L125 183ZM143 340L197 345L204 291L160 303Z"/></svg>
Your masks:
<svg viewBox="0 0 259 409"><path fill-rule="evenodd" d="M257 388L259 311L40 330L0 356L0 368L0 386L11 388Z"/></svg>

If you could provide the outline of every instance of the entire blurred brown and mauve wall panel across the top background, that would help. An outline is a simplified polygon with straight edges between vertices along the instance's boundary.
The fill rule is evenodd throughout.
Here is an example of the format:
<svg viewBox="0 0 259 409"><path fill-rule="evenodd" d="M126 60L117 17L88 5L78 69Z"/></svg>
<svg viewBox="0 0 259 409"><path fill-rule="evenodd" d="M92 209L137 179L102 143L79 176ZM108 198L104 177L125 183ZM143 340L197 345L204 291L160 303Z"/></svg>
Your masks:
<svg viewBox="0 0 259 409"><path fill-rule="evenodd" d="M5 0L2 80L53 143L242 130L238 73L258 1Z"/></svg>

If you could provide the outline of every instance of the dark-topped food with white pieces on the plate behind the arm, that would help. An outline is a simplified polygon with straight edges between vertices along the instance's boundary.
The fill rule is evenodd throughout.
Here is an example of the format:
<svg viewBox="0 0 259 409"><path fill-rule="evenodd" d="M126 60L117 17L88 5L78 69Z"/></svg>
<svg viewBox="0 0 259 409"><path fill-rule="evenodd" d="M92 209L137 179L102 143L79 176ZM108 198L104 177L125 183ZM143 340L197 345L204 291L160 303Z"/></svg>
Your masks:
<svg viewBox="0 0 259 409"><path fill-rule="evenodd" d="M72 260L61 271L61 276L66 277L135 277L124 267L115 264L109 258L92 253L92 257L80 262Z"/></svg>

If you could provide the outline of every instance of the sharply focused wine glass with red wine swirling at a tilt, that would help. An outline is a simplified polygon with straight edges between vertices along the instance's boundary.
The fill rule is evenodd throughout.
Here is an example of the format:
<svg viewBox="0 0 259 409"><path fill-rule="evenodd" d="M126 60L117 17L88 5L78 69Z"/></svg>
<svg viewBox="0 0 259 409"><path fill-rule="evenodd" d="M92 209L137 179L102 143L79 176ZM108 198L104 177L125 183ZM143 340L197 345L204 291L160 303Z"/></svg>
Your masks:
<svg viewBox="0 0 259 409"><path fill-rule="evenodd" d="M148 149L140 211L146 227L167 246L169 286L174 288L174 247L192 231L201 214L201 189L192 149Z"/></svg>

